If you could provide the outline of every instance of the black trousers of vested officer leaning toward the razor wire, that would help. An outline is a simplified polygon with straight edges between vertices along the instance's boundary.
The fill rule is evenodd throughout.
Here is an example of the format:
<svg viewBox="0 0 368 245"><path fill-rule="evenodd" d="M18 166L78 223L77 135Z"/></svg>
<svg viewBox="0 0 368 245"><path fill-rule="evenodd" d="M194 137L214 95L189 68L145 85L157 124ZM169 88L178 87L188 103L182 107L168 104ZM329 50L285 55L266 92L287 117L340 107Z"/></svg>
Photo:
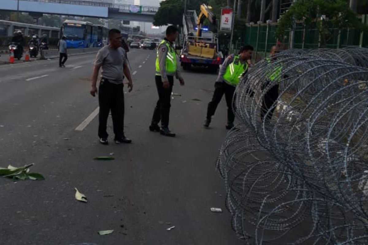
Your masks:
<svg viewBox="0 0 368 245"><path fill-rule="evenodd" d="M233 123L235 115L232 108L232 101L235 92L235 87L227 84L226 82L216 82L215 92L213 93L212 100L208 103L207 118L215 115L217 105L220 103L222 96L225 94L227 104L227 122Z"/></svg>

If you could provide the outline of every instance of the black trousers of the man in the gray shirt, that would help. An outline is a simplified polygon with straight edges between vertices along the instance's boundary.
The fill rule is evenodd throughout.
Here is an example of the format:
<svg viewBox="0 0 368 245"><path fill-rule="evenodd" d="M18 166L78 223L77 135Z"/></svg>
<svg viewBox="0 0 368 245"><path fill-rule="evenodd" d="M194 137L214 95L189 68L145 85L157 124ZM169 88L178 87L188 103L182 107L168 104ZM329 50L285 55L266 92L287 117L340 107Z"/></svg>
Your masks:
<svg viewBox="0 0 368 245"><path fill-rule="evenodd" d="M124 136L124 84L114 84L102 78L99 86L100 105L98 136L107 138L107 118L111 110L115 139Z"/></svg>

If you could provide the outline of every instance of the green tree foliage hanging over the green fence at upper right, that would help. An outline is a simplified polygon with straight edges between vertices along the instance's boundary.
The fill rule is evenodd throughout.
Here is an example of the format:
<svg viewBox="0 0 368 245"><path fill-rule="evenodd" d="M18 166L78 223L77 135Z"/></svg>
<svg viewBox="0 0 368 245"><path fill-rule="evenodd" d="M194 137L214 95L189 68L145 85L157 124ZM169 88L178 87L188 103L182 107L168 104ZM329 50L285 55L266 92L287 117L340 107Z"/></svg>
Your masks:
<svg viewBox="0 0 368 245"><path fill-rule="evenodd" d="M307 29L315 25L321 36L322 46L334 35L333 29L354 28L358 31L367 29L343 0L305 0L293 3L280 18L276 36L282 38L293 25L294 19L296 22L302 22Z"/></svg>

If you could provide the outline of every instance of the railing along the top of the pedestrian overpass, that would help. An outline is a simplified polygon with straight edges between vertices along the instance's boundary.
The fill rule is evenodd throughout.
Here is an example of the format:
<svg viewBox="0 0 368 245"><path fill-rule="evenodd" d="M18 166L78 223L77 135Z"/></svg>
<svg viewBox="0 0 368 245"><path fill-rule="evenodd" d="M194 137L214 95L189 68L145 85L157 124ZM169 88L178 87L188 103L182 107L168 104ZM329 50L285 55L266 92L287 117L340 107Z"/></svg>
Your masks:
<svg viewBox="0 0 368 245"><path fill-rule="evenodd" d="M121 12L128 12L131 10L133 6L133 5L127 5L127 4L123 5L123 4L99 3L99 2L79 1L79 0L21 0L21 1L107 7L107 8L118 9L118 11L121 11ZM159 9L158 7L152 7L152 6L140 6L140 7L141 7L141 12L149 12L149 13L155 13Z"/></svg>

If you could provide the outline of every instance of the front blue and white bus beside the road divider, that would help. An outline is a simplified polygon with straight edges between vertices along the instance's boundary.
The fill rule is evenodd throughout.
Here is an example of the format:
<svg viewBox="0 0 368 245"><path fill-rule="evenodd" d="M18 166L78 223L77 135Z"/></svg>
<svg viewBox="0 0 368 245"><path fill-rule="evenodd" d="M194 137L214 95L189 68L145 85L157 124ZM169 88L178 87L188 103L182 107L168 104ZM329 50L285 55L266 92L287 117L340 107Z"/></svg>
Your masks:
<svg viewBox="0 0 368 245"><path fill-rule="evenodd" d="M61 33L66 37L67 48L98 46L98 26L91 22L66 20L61 26Z"/></svg>

